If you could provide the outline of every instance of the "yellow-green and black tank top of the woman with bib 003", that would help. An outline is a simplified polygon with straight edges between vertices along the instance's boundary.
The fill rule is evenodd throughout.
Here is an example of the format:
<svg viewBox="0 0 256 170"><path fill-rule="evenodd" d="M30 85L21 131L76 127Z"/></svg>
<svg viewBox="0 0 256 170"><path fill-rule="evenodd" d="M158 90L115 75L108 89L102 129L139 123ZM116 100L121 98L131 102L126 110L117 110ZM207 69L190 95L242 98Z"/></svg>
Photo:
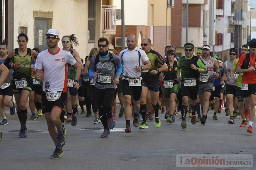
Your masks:
<svg viewBox="0 0 256 170"><path fill-rule="evenodd" d="M13 57L13 63L20 62L21 66L13 68L13 78L26 78L31 76L31 49L28 48L26 56L19 56L19 48L15 48L15 55Z"/></svg>

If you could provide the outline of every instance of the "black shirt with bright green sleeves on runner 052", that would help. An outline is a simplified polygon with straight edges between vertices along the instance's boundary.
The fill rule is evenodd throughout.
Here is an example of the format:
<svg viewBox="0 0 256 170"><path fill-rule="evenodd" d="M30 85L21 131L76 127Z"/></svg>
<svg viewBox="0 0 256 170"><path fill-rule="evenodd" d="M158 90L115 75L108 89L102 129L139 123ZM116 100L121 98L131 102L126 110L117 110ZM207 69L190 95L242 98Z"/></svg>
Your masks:
<svg viewBox="0 0 256 170"><path fill-rule="evenodd" d="M198 58L197 56L193 55L190 58L186 58L185 56L180 57L178 61L178 75L184 78L196 78L196 80L199 78L200 70L198 71L193 70L191 68L191 64L196 65L200 70L206 71L207 73L207 67L204 64L204 62ZM182 81L182 84L184 82Z"/></svg>

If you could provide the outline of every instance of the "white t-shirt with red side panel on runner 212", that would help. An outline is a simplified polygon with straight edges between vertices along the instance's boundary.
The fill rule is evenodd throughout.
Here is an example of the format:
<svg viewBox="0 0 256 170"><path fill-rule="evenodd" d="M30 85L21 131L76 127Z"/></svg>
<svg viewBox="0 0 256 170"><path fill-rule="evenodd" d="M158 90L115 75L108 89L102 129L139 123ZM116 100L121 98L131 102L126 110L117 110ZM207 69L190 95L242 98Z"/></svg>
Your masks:
<svg viewBox="0 0 256 170"><path fill-rule="evenodd" d="M44 72L43 91L67 92L67 63L72 66L76 64L76 59L70 52L60 48L55 54L50 53L47 49L37 55L35 68Z"/></svg>

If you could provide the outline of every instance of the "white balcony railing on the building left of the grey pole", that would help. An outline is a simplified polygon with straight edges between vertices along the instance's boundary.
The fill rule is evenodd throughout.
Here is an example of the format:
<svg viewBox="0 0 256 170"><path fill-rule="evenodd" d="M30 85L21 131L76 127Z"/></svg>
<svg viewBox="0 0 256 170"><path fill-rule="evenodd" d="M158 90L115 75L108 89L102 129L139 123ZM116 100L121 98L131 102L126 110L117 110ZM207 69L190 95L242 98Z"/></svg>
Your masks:
<svg viewBox="0 0 256 170"><path fill-rule="evenodd" d="M116 30L116 6L102 5L104 9L104 30Z"/></svg>

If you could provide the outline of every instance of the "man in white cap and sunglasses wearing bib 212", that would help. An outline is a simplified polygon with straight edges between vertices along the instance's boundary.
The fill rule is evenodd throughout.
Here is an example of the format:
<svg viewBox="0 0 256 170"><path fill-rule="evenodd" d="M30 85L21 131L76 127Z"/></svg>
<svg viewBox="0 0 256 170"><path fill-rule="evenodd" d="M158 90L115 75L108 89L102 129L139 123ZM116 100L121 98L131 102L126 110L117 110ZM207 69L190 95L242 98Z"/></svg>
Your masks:
<svg viewBox="0 0 256 170"><path fill-rule="evenodd" d="M56 29L49 29L46 35L48 49L37 56L35 78L38 81L43 80L42 110L48 131L56 146L50 159L59 159L59 156L63 154L62 147L66 143L66 129L61 126L60 114L67 98L67 65L69 63L77 69L73 83L74 88L77 89L82 67L69 52L60 50L58 47L59 32Z"/></svg>

